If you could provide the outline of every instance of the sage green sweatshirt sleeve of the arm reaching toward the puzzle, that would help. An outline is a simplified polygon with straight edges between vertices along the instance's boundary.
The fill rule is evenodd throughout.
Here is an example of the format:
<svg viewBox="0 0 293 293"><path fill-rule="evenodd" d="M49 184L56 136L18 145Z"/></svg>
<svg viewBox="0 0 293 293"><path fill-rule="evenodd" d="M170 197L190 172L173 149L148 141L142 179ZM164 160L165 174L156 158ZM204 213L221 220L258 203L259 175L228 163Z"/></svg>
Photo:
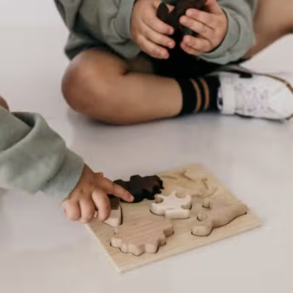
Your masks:
<svg viewBox="0 0 293 293"><path fill-rule="evenodd" d="M65 199L77 185L84 162L42 116L10 113L0 106L0 187Z"/></svg>

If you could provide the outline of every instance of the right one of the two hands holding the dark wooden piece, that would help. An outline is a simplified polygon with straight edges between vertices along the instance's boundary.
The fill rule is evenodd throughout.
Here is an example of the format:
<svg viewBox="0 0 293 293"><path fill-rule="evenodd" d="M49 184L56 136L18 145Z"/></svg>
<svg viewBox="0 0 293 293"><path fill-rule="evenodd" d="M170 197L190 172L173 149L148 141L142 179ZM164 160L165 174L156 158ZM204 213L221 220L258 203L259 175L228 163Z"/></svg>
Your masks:
<svg viewBox="0 0 293 293"><path fill-rule="evenodd" d="M198 36L184 36L181 48L190 55L200 56L216 48L225 38L228 21L226 14L216 0L208 0L206 11L188 9L180 23L198 33Z"/></svg>

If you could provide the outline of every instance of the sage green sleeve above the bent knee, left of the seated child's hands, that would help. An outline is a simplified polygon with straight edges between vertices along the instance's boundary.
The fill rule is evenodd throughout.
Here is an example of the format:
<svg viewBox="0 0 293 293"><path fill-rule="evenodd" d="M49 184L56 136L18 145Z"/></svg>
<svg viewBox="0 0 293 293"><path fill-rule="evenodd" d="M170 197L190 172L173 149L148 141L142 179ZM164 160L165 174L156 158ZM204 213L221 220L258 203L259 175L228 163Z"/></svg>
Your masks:
<svg viewBox="0 0 293 293"><path fill-rule="evenodd" d="M136 0L55 0L70 31L65 51L69 58L82 47L103 46L125 58L136 56L140 48L131 41L130 21Z"/></svg>

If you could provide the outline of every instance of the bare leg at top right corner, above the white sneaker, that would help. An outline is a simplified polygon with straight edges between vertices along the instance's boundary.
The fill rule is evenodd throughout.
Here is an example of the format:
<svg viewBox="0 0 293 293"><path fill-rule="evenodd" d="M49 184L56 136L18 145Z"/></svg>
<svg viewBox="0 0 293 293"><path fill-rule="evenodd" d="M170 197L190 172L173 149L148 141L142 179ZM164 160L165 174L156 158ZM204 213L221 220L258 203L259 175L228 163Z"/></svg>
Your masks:
<svg viewBox="0 0 293 293"><path fill-rule="evenodd" d="M259 0L254 17L254 31L256 44L246 54L247 58L293 33L292 0Z"/></svg>

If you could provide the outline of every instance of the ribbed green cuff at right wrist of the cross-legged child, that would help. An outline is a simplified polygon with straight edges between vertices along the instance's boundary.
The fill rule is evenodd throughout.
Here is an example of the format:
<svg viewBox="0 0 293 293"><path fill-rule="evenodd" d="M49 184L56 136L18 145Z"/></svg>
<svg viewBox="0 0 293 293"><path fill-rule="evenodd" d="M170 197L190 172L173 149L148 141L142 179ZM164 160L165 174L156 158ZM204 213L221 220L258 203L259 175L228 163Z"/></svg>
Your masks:
<svg viewBox="0 0 293 293"><path fill-rule="evenodd" d="M222 8L228 20L228 29L223 42L213 51L201 55L205 61L227 64L230 60L230 49L238 42L240 36L239 23L231 16L228 9Z"/></svg>

